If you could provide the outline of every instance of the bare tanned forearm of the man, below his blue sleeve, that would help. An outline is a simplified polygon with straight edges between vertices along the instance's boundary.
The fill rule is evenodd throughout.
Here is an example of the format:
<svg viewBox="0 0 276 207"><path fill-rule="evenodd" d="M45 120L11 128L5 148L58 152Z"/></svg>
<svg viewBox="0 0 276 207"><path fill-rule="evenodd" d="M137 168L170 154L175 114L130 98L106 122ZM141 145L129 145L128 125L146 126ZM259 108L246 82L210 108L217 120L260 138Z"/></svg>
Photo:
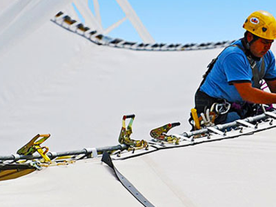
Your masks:
<svg viewBox="0 0 276 207"><path fill-rule="evenodd" d="M253 88L251 83L233 83L237 88L239 95L244 101L249 101L252 103L276 103L276 93L266 92L264 90L259 90L258 88ZM270 81L268 87L273 88L272 92L276 92L276 81Z"/></svg>

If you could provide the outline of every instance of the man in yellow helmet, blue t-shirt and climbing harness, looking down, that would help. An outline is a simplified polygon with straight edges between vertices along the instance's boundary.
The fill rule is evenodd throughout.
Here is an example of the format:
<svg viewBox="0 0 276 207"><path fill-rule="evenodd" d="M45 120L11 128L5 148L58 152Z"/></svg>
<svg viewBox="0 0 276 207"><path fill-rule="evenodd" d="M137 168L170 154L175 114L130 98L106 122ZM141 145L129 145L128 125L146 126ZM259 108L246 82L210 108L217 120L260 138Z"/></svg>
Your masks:
<svg viewBox="0 0 276 207"><path fill-rule="evenodd" d="M276 39L276 20L259 10L249 15L243 28L244 37L211 61L195 93L197 115L206 120L210 117L206 112L213 112L215 124L253 116L259 104L276 103L275 57L270 50ZM270 92L261 89L264 81Z"/></svg>

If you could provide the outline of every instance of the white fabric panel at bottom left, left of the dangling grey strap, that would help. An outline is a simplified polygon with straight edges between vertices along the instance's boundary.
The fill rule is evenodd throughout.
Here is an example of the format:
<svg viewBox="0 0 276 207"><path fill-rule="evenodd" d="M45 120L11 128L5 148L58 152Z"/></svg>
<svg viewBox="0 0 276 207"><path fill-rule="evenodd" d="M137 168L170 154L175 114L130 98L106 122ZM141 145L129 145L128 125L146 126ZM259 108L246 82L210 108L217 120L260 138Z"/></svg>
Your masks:
<svg viewBox="0 0 276 207"><path fill-rule="evenodd" d="M95 176L97 175L97 176ZM99 159L1 181L1 206L141 206Z"/></svg>

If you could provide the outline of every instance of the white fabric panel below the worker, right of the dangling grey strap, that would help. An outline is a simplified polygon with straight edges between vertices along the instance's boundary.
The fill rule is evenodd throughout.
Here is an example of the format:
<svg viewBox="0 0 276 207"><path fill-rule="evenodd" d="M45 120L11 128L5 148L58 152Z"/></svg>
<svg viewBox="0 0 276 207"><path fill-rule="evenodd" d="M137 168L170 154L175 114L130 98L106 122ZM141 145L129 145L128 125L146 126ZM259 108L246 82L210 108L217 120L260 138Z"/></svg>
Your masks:
<svg viewBox="0 0 276 207"><path fill-rule="evenodd" d="M115 166L156 206L274 206L274 135L159 150Z"/></svg>

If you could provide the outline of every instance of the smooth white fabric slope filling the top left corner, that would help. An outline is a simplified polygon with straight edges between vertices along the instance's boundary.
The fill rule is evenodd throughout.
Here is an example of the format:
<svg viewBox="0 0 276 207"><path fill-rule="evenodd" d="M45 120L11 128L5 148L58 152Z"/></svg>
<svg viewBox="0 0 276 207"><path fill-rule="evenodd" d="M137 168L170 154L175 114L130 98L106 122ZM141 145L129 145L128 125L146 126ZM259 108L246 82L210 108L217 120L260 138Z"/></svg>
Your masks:
<svg viewBox="0 0 276 207"><path fill-rule="evenodd" d="M0 13L0 54L17 47L70 2L72 0L24 0L10 3Z"/></svg>

